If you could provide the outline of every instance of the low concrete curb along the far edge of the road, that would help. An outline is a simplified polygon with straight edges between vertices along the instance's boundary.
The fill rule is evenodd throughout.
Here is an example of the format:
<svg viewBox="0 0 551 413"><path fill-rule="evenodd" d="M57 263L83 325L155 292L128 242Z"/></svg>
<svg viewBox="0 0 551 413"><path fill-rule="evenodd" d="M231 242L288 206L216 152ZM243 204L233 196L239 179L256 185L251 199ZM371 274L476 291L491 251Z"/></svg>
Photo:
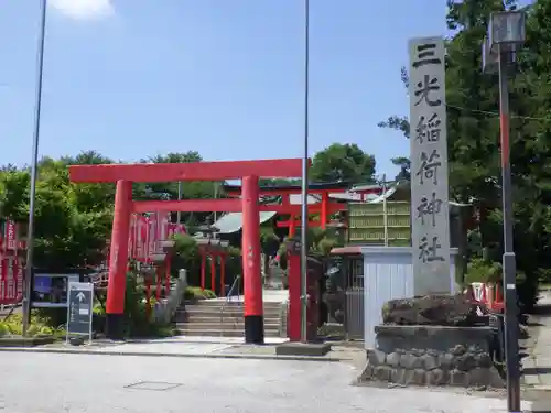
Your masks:
<svg viewBox="0 0 551 413"><path fill-rule="evenodd" d="M193 354L193 352L143 352L143 351L98 351L98 350L73 350L68 348L30 348L30 347L0 347L0 352L33 352L33 354L60 354L60 355L93 355L93 356L141 356L141 357L172 357L172 358L210 358L210 359L247 359L247 360L282 360L282 361L325 361L338 362L347 359L341 357L317 356L276 356L276 355L251 355L251 354Z"/></svg>

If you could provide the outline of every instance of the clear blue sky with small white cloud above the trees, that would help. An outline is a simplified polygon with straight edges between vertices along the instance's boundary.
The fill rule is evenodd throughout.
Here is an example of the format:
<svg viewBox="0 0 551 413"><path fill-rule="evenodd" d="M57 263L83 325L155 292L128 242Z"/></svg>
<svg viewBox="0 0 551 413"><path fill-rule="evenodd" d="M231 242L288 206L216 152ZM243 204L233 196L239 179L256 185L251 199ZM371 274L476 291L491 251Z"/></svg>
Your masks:
<svg viewBox="0 0 551 413"><path fill-rule="evenodd" d="M0 164L31 161L39 2L0 4ZM395 172L409 142L377 122L409 111L408 39L445 33L445 1L421 3L311 0L312 152ZM302 155L302 0L50 0L45 53L41 155Z"/></svg>

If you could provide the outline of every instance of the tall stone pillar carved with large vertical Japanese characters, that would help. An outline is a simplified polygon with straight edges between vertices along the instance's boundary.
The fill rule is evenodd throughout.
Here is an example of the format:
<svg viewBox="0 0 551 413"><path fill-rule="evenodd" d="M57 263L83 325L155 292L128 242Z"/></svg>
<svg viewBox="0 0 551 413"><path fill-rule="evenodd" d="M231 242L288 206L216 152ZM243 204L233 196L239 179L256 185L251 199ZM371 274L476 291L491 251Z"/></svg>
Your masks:
<svg viewBox="0 0 551 413"><path fill-rule="evenodd" d="M414 295L450 293L444 40L412 39L409 54Z"/></svg>

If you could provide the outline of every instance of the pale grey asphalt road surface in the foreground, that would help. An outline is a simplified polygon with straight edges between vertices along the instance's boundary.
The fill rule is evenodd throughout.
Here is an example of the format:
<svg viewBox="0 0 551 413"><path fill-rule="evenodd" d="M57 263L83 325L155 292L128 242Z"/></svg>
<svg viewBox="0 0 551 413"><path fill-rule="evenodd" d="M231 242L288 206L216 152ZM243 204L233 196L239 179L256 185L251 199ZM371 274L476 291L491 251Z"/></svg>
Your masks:
<svg viewBox="0 0 551 413"><path fill-rule="evenodd" d="M345 363L0 354L7 413L490 413L496 399L349 385Z"/></svg>

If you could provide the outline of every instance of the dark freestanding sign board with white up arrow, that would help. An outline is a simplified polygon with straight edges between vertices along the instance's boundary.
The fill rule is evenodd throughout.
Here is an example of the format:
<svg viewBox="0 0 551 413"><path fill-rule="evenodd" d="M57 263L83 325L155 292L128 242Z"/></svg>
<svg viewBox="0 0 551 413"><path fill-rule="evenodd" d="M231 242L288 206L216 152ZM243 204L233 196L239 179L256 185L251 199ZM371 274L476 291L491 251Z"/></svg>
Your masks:
<svg viewBox="0 0 551 413"><path fill-rule="evenodd" d="M94 284L71 282L68 286L67 340L69 336L89 336L94 309Z"/></svg>

